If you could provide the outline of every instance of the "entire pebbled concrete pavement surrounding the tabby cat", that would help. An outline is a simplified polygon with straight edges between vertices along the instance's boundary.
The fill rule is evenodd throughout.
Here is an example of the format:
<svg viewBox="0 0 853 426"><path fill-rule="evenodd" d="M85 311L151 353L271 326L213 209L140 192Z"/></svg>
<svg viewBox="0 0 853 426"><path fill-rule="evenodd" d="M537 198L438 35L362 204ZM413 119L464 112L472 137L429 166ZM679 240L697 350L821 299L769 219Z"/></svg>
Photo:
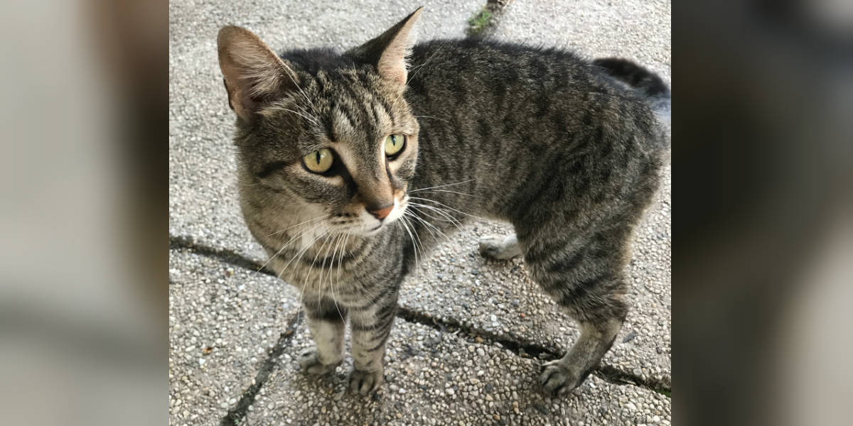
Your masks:
<svg viewBox="0 0 853 426"><path fill-rule="evenodd" d="M386 387L375 399L339 392L350 360L331 377L297 371L295 358L309 345L305 324L284 333L299 310L299 292L255 273L248 262L234 262L260 264L265 257L238 207L233 112L216 58L218 28L247 26L273 49L349 47L424 4L422 40L463 37L467 19L484 3L170 3L169 232L177 241L170 250L171 424L219 424L229 413L239 415L240 424L670 422L670 398L653 390L671 387L670 167L637 229L629 267L632 309L603 361L624 374L619 383L590 376L562 400L532 389L541 362L535 355L527 358L494 342L561 352L577 337L572 321L527 278L523 262L486 261L477 254L477 239L509 233L505 225L475 221L463 227L404 283L400 304L421 322L397 319ZM669 34L668 0L517 0L491 37L567 47L590 57L624 56L669 81ZM268 377L257 383L263 371ZM253 402L241 408L241 399Z"/></svg>

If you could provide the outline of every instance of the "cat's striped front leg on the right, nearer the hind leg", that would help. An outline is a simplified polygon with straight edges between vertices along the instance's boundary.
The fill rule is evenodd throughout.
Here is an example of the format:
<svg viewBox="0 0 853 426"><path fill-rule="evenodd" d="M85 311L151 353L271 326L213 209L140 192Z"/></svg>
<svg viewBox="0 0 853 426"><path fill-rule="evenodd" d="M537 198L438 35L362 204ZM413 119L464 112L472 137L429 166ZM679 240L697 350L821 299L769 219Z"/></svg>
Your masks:
<svg viewBox="0 0 853 426"><path fill-rule="evenodd" d="M397 314L397 291L361 308L351 309L352 359L350 375L352 392L370 394L385 383L385 343L391 335Z"/></svg>

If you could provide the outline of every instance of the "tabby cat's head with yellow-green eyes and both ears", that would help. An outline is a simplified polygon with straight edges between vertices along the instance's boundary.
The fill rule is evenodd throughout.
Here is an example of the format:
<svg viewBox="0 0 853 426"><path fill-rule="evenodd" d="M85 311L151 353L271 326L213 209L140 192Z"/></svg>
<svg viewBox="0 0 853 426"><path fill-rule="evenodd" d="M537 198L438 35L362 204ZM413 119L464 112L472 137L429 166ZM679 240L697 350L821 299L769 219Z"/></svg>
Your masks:
<svg viewBox="0 0 853 426"><path fill-rule="evenodd" d="M242 196L279 206L272 222L369 235L403 216L419 129L403 99L405 55L420 14L343 54L286 59L246 29L220 30Z"/></svg>

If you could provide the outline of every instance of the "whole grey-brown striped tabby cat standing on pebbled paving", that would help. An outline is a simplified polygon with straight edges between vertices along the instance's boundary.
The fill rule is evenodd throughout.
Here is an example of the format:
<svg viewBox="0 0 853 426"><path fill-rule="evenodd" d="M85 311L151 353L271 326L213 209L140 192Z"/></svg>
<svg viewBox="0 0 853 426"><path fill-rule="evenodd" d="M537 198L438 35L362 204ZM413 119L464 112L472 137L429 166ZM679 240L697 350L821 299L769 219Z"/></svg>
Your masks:
<svg viewBox="0 0 853 426"><path fill-rule="evenodd" d="M481 253L524 256L580 325L539 378L565 393L624 321L632 230L669 149L652 105L668 106L670 90L626 60L476 40L409 47L420 14L343 53L276 55L243 28L219 32L241 209L270 268L301 292L316 343L300 365L334 371L349 320L349 388L380 387L403 277L481 216L515 230Z"/></svg>

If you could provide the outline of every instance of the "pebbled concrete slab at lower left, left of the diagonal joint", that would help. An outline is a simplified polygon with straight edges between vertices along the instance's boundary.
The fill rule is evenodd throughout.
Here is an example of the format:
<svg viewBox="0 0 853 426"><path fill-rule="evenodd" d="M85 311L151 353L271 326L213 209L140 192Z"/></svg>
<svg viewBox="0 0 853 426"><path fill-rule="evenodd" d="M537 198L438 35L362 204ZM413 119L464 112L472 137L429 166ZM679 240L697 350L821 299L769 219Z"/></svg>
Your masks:
<svg viewBox="0 0 853 426"><path fill-rule="evenodd" d="M296 314L299 294L263 273L172 250L170 424L218 424Z"/></svg>

